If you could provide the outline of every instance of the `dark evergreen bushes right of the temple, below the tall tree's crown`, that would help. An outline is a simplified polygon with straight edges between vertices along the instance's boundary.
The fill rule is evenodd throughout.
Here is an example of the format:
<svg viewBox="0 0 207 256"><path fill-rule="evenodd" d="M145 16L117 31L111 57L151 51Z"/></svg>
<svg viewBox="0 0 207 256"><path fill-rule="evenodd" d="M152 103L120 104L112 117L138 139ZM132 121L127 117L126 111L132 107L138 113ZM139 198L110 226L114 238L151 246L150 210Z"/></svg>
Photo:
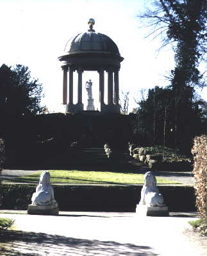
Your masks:
<svg viewBox="0 0 207 256"><path fill-rule="evenodd" d="M154 87L149 89L147 99L139 102L134 121L136 133L143 142L139 144L190 150L195 135L205 132L206 115L202 105L194 100L192 87L183 87L177 110L174 94L171 86Z"/></svg>

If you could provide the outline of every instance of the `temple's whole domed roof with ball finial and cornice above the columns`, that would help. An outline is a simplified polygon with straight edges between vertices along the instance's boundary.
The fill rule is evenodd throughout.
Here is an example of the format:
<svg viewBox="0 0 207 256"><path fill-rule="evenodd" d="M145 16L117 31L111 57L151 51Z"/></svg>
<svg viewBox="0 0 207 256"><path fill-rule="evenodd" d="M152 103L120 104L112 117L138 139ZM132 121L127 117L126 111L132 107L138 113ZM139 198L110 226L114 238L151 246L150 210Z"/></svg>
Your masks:
<svg viewBox="0 0 207 256"><path fill-rule="evenodd" d="M63 66L72 67L74 70L119 69L120 62L124 58L120 56L115 42L107 35L95 32L93 29L94 19L90 19L88 24L90 29L71 38L65 46L63 55L58 57L58 60L63 63Z"/></svg>

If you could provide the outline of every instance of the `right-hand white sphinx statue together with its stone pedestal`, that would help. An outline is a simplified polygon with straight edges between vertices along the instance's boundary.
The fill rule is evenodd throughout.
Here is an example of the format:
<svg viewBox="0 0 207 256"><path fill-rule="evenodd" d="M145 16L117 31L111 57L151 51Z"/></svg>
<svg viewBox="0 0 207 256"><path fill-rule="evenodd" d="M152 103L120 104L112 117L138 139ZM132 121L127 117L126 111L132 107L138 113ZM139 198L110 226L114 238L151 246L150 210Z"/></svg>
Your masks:
<svg viewBox="0 0 207 256"><path fill-rule="evenodd" d="M141 199L136 212L144 211L147 216L168 216L168 207L164 204L163 195L158 191L156 178L152 171L144 175Z"/></svg>

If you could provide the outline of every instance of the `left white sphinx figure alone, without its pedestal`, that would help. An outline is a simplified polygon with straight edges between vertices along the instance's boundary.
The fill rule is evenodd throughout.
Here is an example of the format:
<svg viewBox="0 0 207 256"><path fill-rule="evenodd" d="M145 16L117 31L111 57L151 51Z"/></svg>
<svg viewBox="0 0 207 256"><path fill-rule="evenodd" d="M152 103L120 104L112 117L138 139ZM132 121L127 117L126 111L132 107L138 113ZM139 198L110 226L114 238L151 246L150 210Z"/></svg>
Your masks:
<svg viewBox="0 0 207 256"><path fill-rule="evenodd" d="M44 171L40 175L40 182L33 194L32 205L57 205L54 200L54 191L50 181L49 171Z"/></svg>

